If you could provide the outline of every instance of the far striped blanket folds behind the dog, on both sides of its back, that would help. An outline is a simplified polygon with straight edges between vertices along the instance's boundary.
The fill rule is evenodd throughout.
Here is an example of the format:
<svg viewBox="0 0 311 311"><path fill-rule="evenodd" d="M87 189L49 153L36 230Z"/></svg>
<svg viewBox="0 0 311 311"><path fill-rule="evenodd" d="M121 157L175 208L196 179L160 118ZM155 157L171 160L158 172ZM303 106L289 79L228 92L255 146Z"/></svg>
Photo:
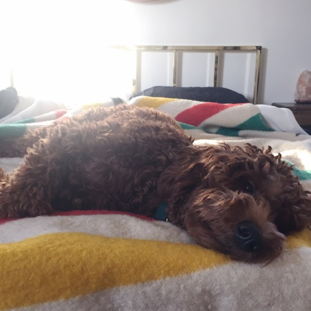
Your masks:
<svg viewBox="0 0 311 311"><path fill-rule="evenodd" d="M135 97L129 104L158 109L170 114L184 128L195 126L206 133L235 137L275 137L278 135L273 133L275 131L307 134L295 121L289 109L268 105L201 103L148 96ZM13 123L0 123L0 141L17 138L24 135L28 129L47 126L57 119L70 118L94 105L109 107L114 105L114 101L108 99L100 104L86 104L71 110L61 109L44 114L38 114L34 109L34 116L19 120L19 115L25 115L20 113Z"/></svg>

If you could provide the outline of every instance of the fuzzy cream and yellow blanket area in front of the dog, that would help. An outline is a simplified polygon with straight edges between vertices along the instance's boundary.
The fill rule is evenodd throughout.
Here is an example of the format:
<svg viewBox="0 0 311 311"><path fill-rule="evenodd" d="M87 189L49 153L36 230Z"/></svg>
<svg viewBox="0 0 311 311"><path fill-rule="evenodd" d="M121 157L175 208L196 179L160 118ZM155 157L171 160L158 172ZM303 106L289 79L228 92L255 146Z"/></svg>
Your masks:
<svg viewBox="0 0 311 311"><path fill-rule="evenodd" d="M0 242L0 310L286 311L311 303L307 230L267 266L193 244L174 225L104 211L8 221Z"/></svg>

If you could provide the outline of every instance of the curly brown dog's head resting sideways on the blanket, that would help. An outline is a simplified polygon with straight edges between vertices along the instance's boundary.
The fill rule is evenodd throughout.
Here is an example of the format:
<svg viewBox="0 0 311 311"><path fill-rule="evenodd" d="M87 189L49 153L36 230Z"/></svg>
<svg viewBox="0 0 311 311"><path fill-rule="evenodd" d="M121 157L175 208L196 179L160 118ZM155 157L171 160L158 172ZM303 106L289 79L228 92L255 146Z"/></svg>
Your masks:
<svg viewBox="0 0 311 311"><path fill-rule="evenodd" d="M184 208L183 225L203 246L247 262L270 262L285 235L310 223L311 200L293 168L247 144L202 148L189 174L201 174Z"/></svg>

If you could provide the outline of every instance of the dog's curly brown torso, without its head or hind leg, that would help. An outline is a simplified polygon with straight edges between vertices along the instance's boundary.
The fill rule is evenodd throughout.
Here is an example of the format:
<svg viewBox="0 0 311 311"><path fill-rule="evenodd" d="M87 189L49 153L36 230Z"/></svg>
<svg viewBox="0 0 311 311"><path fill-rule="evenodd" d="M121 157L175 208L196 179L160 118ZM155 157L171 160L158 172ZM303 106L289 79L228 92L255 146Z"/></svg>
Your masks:
<svg viewBox="0 0 311 311"><path fill-rule="evenodd" d="M160 174L190 146L191 139L171 117L120 105L95 107L29 131L3 145L0 155L26 154L16 178L24 180L29 191L42 186L47 206L140 212L143 202L152 210L158 204Z"/></svg>

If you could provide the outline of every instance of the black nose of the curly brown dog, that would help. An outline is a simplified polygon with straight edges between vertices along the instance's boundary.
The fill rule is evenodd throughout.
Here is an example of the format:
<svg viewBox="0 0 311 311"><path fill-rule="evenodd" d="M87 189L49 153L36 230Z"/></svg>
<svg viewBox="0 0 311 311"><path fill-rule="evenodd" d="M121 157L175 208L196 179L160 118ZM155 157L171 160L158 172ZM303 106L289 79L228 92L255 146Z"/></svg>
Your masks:
<svg viewBox="0 0 311 311"><path fill-rule="evenodd" d="M262 234L258 226L249 220L244 220L237 225L235 239L237 246L248 253L259 251L262 245Z"/></svg>

